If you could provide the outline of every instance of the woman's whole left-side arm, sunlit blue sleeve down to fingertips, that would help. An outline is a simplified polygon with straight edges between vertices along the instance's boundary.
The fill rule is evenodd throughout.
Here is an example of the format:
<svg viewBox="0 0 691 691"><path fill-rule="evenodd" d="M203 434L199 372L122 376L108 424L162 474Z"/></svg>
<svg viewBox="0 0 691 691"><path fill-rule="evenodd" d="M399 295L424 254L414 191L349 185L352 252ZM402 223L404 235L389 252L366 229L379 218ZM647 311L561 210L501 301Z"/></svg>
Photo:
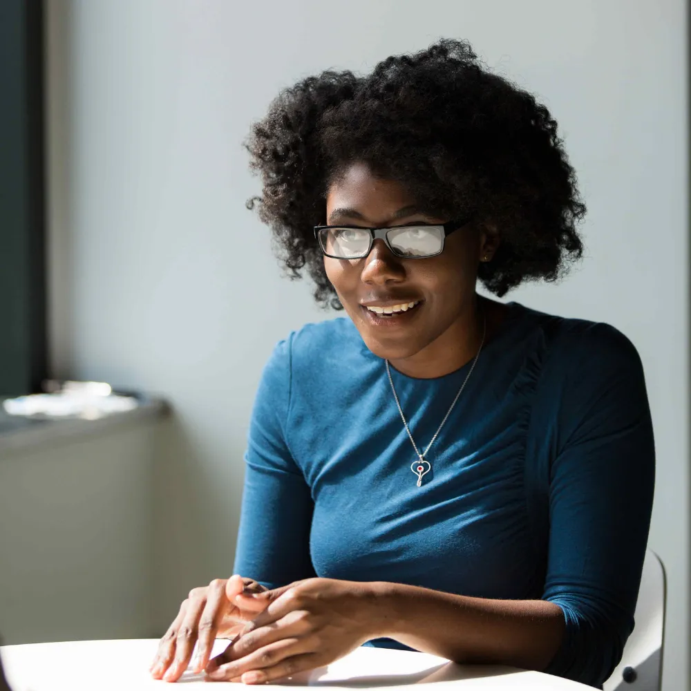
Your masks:
<svg viewBox="0 0 691 691"><path fill-rule="evenodd" d="M233 638L242 623L263 609L261 603L238 603L240 592L257 592L314 575L309 553L312 500L283 437L290 399L290 351L279 343L265 366L252 415L247 474L236 572L251 578L215 578L194 588L160 641L151 664L154 679L177 681L192 652L196 672L207 664L216 637ZM1 691L1 689L0 689Z"/></svg>

